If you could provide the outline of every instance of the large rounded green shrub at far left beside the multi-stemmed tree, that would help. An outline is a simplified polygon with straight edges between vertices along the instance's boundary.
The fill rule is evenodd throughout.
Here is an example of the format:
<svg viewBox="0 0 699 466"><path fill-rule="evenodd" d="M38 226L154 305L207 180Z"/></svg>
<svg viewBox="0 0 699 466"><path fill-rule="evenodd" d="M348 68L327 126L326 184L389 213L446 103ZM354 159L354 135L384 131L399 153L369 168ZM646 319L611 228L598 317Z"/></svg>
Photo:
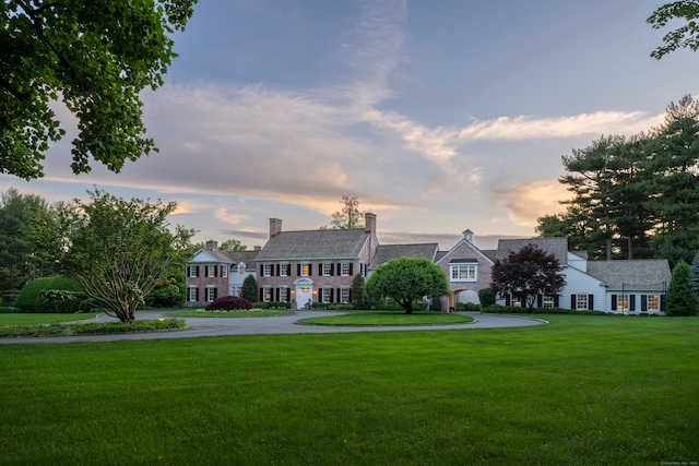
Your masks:
<svg viewBox="0 0 699 466"><path fill-rule="evenodd" d="M81 310L87 295L70 277L55 275L35 278L22 288L14 307L23 312L72 313Z"/></svg>

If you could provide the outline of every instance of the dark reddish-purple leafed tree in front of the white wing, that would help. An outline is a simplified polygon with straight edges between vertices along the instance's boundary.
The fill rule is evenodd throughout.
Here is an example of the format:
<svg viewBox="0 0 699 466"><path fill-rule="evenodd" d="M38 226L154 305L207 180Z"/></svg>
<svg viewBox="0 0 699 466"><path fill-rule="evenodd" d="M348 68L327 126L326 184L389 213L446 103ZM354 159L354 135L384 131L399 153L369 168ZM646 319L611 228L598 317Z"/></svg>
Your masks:
<svg viewBox="0 0 699 466"><path fill-rule="evenodd" d="M555 296L566 286L560 262L535 244L510 251L493 265L490 289L500 299L512 296L531 312L540 295Z"/></svg>

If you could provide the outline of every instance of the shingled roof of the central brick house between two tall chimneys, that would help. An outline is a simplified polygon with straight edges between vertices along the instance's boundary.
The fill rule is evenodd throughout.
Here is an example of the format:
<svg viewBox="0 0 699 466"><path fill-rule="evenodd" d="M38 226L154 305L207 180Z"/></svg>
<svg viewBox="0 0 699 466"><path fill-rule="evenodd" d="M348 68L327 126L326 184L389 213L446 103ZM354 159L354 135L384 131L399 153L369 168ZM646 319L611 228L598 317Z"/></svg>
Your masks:
<svg viewBox="0 0 699 466"><path fill-rule="evenodd" d="M280 231L254 261L356 259L369 236L364 228Z"/></svg>

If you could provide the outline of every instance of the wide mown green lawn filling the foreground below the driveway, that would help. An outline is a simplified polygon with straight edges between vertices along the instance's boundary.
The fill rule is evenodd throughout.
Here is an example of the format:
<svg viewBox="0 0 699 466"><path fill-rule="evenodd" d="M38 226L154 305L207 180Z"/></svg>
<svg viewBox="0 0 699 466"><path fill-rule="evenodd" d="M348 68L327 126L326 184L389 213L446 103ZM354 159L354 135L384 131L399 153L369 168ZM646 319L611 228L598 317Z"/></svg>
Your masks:
<svg viewBox="0 0 699 466"><path fill-rule="evenodd" d="M2 464L699 461L699 319L0 346Z"/></svg>

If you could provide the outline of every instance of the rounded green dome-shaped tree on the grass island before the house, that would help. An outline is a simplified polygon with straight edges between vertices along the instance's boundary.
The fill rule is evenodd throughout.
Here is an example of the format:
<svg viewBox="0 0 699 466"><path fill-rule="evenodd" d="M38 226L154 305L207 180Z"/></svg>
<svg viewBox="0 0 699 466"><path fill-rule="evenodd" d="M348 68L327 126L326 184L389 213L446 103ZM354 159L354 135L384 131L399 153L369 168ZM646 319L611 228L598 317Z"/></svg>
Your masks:
<svg viewBox="0 0 699 466"><path fill-rule="evenodd" d="M423 298L449 295L449 280L445 271L428 259L391 259L379 265L366 282L367 295L376 300L394 299L406 314L413 313L413 303Z"/></svg>

